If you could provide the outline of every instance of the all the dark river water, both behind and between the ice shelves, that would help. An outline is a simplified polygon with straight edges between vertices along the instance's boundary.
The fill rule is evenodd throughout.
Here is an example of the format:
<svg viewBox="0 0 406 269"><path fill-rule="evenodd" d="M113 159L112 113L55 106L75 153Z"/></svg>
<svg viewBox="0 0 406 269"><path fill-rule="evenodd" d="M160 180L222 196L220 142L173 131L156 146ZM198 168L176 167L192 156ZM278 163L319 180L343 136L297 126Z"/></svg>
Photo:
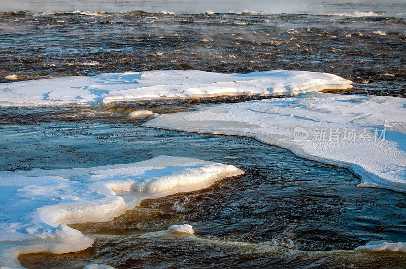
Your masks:
<svg viewBox="0 0 406 269"><path fill-rule="evenodd" d="M56 2L55 2L56 3ZM0 0L0 82L101 72L297 69L354 82L346 94L406 97L406 4ZM6 76L15 74L16 77ZM130 163L159 155L231 164L246 174L144 201L111 222L71 225L90 249L21 255L25 267L404 267L404 194L357 188L349 170L249 138L144 128L133 110L190 111L264 97L0 108L0 170ZM112 113L113 112L113 113ZM119 113L116 113L119 112ZM197 237L163 232L192 224Z"/></svg>

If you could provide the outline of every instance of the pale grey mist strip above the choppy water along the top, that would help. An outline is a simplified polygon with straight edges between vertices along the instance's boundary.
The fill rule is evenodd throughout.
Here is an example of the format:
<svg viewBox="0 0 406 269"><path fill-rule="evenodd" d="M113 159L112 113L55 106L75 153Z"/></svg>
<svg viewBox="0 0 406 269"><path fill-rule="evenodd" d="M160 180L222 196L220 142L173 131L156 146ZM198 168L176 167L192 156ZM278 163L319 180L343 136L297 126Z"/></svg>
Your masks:
<svg viewBox="0 0 406 269"><path fill-rule="evenodd" d="M315 0L254 0L254 1L188 1L188 0L0 0L0 11L58 11L67 12L74 10L107 12L125 12L131 10L143 10L146 12L169 11L175 13L202 13L207 11L226 13L230 11L244 12L254 11L262 13L314 13L314 12L342 12L361 11L368 7L373 12L398 12L398 7L404 5L404 1L315 1ZM360 10L359 10L360 9Z"/></svg>

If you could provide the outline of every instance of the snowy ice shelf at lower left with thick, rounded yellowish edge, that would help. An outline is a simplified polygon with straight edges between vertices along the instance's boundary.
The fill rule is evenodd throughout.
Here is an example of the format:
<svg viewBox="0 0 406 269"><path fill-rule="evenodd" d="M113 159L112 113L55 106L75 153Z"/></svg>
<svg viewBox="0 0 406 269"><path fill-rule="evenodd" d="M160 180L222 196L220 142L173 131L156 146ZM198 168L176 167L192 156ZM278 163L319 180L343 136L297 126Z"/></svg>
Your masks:
<svg viewBox="0 0 406 269"><path fill-rule="evenodd" d="M0 171L0 267L21 267L19 254L92 246L92 238L66 224L112 220L144 199L243 173L231 165L168 156L93 168Z"/></svg>

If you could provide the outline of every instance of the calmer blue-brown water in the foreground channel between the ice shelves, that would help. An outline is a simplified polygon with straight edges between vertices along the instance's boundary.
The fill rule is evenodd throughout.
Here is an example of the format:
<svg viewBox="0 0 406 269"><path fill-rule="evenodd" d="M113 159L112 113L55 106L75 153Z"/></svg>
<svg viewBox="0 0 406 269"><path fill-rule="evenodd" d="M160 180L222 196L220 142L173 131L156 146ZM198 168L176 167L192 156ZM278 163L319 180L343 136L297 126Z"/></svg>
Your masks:
<svg viewBox="0 0 406 269"><path fill-rule="evenodd" d="M348 251L368 241L405 241L406 203L403 194L390 190L357 188L359 178L346 169L250 138L149 129L140 126L143 121L87 108L4 109L0 116L0 170L91 167L172 155L246 172L204 190L146 200L111 222L72 225L96 238L91 249L21 255L25 267L406 264L401 252ZM183 223L193 226L197 238L158 232Z"/></svg>

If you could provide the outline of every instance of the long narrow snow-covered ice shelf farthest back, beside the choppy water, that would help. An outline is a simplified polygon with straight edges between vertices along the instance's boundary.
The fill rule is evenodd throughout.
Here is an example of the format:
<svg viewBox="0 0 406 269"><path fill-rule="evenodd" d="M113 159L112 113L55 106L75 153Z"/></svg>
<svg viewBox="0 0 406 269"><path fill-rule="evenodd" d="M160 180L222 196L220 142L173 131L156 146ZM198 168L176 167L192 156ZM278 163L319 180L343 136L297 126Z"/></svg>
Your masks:
<svg viewBox="0 0 406 269"><path fill-rule="evenodd" d="M94 105L123 100L222 95L295 95L350 88L351 81L329 73L274 70L223 74L161 70L4 83L0 88L0 106Z"/></svg>

